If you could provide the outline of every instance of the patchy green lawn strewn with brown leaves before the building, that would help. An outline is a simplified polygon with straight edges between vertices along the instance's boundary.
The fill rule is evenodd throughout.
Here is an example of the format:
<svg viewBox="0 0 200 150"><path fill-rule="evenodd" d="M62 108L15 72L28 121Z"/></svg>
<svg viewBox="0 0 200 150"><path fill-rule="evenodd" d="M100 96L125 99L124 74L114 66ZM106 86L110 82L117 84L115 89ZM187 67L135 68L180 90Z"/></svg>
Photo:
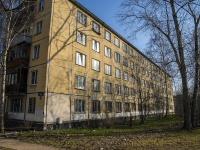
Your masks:
<svg viewBox="0 0 200 150"><path fill-rule="evenodd" d="M188 132L181 125L180 118L170 116L151 118L143 125L136 121L132 127L23 132L19 140L66 149L200 149L200 128Z"/></svg>

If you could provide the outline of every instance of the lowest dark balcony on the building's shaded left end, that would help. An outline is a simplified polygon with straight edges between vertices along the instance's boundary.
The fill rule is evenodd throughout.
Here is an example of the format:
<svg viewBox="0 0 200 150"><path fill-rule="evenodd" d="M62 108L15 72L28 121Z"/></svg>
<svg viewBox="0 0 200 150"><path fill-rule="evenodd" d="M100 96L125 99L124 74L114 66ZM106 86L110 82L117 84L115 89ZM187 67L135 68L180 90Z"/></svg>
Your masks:
<svg viewBox="0 0 200 150"><path fill-rule="evenodd" d="M27 93L27 84L6 85L6 95L24 95Z"/></svg>

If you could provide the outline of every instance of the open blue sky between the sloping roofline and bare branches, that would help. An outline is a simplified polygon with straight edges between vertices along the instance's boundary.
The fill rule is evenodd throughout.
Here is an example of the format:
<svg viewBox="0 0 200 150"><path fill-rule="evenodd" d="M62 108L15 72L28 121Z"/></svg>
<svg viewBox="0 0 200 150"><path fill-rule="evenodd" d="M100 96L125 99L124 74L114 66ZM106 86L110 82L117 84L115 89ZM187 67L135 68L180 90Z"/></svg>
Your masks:
<svg viewBox="0 0 200 150"><path fill-rule="evenodd" d="M125 31L125 26L121 26L117 22L115 15L119 10L120 3L123 0L77 0L85 8L95 14L103 22L108 24L113 28L117 33L126 38L130 43L137 47L140 51L144 52L146 43L148 42L148 36L144 33L141 33L136 36L136 39L128 38L130 33Z"/></svg>

